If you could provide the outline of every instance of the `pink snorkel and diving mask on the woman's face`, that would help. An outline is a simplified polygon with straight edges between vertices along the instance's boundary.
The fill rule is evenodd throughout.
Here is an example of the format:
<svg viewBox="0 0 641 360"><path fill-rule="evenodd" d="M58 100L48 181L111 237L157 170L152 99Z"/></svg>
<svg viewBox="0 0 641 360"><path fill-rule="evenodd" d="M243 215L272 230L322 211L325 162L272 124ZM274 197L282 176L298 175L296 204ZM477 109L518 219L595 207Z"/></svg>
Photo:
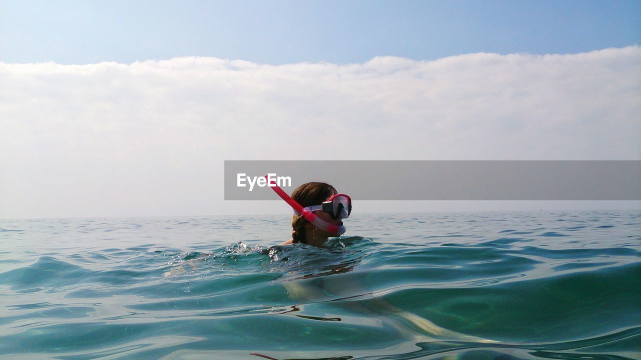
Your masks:
<svg viewBox="0 0 641 360"><path fill-rule="evenodd" d="M265 178L267 178L267 176L265 176ZM269 179L267 181L269 181ZM326 211L327 213L329 213L331 218L335 220L338 218L348 218L349 213L352 212L352 200L349 198L349 196L339 193L320 205L308 206L307 208L303 208L301 204L287 195L287 193L284 192L283 189L281 189L275 181L272 181L272 183L269 184L269 187L271 187L272 190L274 190L274 192L276 192L278 196L281 197L281 199L285 200L285 202L287 202L287 204L289 204L289 206L294 209L294 213L296 215L301 215L305 218L305 220L310 222L318 229L326 231L330 234L335 234L336 236L345 233L345 227L343 225L338 226L336 224L329 224L329 222L326 222L325 220L322 220L322 218L317 217L313 213L313 211Z"/></svg>

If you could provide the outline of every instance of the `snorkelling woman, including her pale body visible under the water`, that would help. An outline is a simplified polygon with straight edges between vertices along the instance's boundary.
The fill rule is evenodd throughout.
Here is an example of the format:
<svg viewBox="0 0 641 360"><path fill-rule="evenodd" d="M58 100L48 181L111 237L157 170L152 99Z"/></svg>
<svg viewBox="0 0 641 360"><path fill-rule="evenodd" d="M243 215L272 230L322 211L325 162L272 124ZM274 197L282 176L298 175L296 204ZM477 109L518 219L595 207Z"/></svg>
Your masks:
<svg viewBox="0 0 641 360"><path fill-rule="evenodd" d="M329 237L344 233L345 227L343 226L342 219L349 217L349 213L351 213L351 199L349 199L347 195L339 194L330 184L302 184L294 190L291 197L276 186L276 184L272 184L272 189L294 208L295 214L292 218L292 238L281 245L306 243L308 245L319 246L325 243ZM352 269L349 268L347 271L351 270ZM482 343L496 342L477 338L476 336L460 334L459 332L439 327L435 323L415 313L399 309L383 297L370 296L372 293L368 293L367 289L363 288L362 291L355 290L362 287L358 282L345 280L330 282L319 281L323 275L336 275L343 272L345 271L304 275L303 277L292 279L295 281L284 281L283 286L285 290L287 290L290 298L299 304L301 302L326 301L328 295L329 297L338 299L340 299L340 297L344 299L353 298L353 294L358 293L360 294L358 296L363 296L363 301L347 302L344 304L344 307L353 307L354 313L370 313L372 316L386 321L390 326L395 327L398 331L406 333L407 336L411 336L418 341L460 340ZM328 284L331 284L329 289L326 287ZM292 311L300 311L300 309L292 306L292 310L285 311L285 313ZM312 316L302 317L313 318ZM314 319L326 320L324 318ZM340 318L332 319L338 319L335 321L340 321Z"/></svg>

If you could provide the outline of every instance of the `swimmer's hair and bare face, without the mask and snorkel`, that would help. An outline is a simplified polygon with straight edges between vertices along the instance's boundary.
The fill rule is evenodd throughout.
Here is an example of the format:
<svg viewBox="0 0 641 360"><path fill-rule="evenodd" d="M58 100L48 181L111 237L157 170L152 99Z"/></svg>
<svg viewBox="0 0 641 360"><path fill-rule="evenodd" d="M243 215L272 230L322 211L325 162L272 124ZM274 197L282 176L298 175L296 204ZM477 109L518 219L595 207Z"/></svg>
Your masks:
<svg viewBox="0 0 641 360"><path fill-rule="evenodd" d="M330 184L312 182L297 187L292 193L292 199L301 204L303 208L307 208L308 206L322 204L337 193L334 186ZM315 215L329 224L342 225L340 218L333 219L324 211L315 212ZM294 243L309 243L310 241L323 238L327 240L329 236L334 236L333 234L317 229L301 215L294 215L292 218L292 229L292 240Z"/></svg>

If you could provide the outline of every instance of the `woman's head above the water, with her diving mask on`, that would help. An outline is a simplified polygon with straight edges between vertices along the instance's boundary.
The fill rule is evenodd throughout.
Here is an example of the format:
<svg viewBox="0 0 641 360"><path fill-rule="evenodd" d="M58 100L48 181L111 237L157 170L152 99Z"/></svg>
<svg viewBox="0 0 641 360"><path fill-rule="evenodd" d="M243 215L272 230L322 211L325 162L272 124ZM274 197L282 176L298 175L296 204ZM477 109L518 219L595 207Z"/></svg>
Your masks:
<svg viewBox="0 0 641 360"><path fill-rule="evenodd" d="M281 245L305 243L319 246L328 238L344 233L342 220L351 213L351 199L347 195L339 194L334 186L318 182L305 183L294 190L292 199L303 211L294 211L292 238ZM304 213L305 211L313 213L318 219L312 220L312 224L309 220L310 214ZM322 221L319 222L319 219ZM335 230L337 227L338 230Z"/></svg>

